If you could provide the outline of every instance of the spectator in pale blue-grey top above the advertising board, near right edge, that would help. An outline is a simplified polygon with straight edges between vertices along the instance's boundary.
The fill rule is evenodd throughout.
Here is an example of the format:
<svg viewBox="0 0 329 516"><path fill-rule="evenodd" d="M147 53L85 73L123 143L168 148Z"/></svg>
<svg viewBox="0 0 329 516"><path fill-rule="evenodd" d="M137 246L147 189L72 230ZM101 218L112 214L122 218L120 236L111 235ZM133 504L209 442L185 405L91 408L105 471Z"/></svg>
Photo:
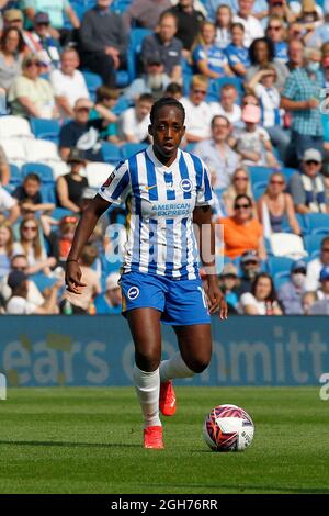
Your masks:
<svg viewBox="0 0 329 516"><path fill-rule="evenodd" d="M303 294L305 293L307 265L303 260L295 261L291 268L291 279L283 283L277 292L279 301L285 315L303 315Z"/></svg>

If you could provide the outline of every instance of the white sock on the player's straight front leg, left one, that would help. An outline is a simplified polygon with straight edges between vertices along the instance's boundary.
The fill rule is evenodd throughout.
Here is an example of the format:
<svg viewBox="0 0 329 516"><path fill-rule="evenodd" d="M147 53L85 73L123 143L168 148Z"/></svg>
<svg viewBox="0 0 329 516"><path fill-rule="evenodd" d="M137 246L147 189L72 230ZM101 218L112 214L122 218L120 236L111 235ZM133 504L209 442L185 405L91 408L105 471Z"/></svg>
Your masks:
<svg viewBox="0 0 329 516"><path fill-rule="evenodd" d="M145 428L148 426L161 426L159 418L159 368L155 371L146 372L134 366L133 379L144 416Z"/></svg>

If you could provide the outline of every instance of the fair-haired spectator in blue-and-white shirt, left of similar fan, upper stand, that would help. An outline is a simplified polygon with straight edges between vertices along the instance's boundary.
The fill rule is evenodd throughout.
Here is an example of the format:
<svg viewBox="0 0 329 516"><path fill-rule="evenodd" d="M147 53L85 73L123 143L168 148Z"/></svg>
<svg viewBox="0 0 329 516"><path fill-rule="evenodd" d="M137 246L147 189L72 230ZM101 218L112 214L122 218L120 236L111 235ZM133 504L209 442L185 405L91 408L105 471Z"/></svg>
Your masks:
<svg viewBox="0 0 329 516"><path fill-rule="evenodd" d="M225 53L215 44L216 30L212 22L202 22L200 44L193 51L193 63L198 74L208 79L232 76Z"/></svg>

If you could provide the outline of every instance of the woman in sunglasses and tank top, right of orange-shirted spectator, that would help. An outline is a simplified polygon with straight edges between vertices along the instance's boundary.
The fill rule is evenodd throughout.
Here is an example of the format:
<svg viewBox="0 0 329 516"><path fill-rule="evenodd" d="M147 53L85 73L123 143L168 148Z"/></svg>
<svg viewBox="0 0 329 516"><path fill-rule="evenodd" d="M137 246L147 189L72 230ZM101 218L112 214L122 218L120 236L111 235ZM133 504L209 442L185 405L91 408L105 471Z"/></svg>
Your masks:
<svg viewBox="0 0 329 516"><path fill-rule="evenodd" d="M283 232L285 220L295 235L302 229L296 218L294 202L290 193L285 192L286 182L282 172L273 172L265 192L259 198L258 216L265 231L265 236Z"/></svg>

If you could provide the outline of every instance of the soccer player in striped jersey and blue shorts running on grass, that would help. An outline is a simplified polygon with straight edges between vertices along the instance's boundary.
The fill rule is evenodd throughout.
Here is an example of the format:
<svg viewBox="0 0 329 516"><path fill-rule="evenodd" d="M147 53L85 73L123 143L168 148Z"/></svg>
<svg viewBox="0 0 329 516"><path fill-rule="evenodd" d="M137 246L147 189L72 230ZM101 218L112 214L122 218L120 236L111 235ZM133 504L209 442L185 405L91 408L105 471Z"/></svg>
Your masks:
<svg viewBox="0 0 329 516"><path fill-rule="evenodd" d="M84 244L107 207L129 197L121 287L135 343L134 383L145 420L145 448L163 448L159 408L167 416L175 412L172 379L193 377L209 363L209 314L219 310L220 318L227 318L214 256L203 259L206 247L215 253L209 175L201 159L179 149L184 119L175 99L155 102L149 125L154 144L110 175L83 211L67 259L67 288L79 294L84 284L78 260ZM200 229L201 259L207 261L208 310L193 222ZM160 319L173 326L180 348L162 362Z"/></svg>

